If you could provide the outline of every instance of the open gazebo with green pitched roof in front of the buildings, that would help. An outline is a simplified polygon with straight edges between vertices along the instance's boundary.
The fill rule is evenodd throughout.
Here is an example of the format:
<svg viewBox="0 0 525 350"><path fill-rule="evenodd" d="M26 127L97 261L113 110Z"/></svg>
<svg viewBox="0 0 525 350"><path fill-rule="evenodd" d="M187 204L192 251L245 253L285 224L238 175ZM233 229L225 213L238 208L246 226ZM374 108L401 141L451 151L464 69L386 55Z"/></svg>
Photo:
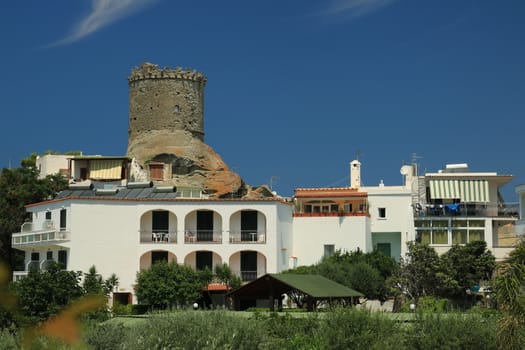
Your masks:
<svg viewBox="0 0 525 350"><path fill-rule="evenodd" d="M234 310L244 310L247 306L255 306L258 300L266 300L270 310L275 311L276 301L278 309L281 309L281 296L291 291L306 296L308 311L313 311L316 302L320 300L345 300L349 304L354 304L355 298L364 296L321 275L269 273L232 290L226 294L226 297L231 298Z"/></svg>

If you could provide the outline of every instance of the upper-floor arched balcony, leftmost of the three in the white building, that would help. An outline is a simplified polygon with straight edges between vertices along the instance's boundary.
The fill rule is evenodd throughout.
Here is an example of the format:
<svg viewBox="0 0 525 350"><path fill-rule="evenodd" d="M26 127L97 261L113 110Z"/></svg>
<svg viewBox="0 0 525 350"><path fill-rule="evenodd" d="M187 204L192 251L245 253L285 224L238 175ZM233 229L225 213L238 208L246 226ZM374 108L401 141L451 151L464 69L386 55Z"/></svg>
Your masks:
<svg viewBox="0 0 525 350"><path fill-rule="evenodd" d="M177 217L168 210L150 210L140 217L140 243L177 243Z"/></svg>

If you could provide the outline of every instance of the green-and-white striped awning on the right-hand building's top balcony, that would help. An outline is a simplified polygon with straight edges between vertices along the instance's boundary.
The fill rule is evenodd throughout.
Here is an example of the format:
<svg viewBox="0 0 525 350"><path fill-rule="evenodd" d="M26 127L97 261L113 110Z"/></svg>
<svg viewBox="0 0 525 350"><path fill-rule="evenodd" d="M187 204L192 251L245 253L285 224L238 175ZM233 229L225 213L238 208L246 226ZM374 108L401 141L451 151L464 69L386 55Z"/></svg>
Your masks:
<svg viewBox="0 0 525 350"><path fill-rule="evenodd" d="M431 199L459 199L461 202L488 202L487 180L430 180Z"/></svg>

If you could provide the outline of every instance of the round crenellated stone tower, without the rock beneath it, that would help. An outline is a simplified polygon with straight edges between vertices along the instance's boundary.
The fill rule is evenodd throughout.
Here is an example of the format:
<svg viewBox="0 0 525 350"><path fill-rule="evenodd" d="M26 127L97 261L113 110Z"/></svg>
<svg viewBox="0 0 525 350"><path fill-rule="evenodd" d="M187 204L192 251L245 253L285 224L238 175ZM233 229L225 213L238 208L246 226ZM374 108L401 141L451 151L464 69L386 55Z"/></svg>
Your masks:
<svg viewBox="0 0 525 350"><path fill-rule="evenodd" d="M128 153L144 137L191 133L204 141L206 77L195 70L159 68L143 63L134 68L129 84ZM169 146L169 145L165 145Z"/></svg>

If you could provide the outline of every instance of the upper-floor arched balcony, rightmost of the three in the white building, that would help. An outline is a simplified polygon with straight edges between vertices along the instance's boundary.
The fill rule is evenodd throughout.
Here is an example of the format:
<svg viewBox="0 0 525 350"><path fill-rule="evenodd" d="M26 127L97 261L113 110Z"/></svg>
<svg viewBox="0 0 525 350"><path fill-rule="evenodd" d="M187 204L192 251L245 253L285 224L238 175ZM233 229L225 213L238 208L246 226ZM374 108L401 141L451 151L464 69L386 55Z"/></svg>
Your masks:
<svg viewBox="0 0 525 350"><path fill-rule="evenodd" d="M266 216L257 210L240 210L230 217L230 243L266 243Z"/></svg>

